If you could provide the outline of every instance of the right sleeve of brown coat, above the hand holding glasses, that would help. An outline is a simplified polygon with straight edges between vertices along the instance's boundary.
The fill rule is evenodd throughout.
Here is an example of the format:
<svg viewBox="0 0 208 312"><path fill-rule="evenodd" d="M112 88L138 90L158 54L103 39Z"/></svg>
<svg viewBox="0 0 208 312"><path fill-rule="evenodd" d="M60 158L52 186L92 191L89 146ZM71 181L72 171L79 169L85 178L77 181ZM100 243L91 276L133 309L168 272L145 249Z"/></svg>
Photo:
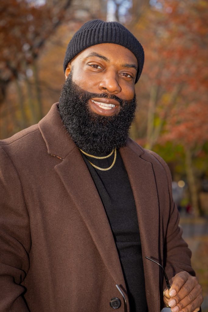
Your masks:
<svg viewBox="0 0 208 312"><path fill-rule="evenodd" d="M182 238L182 229L179 226L179 212L172 197L172 178L167 163L156 153L151 154L157 158L162 164L167 175L167 183L169 190L169 215L166 227L166 235L163 246L163 261L165 271L169 279L181 271L186 271L195 276L195 272L191 267L191 250ZM167 287L164 282L164 288Z"/></svg>

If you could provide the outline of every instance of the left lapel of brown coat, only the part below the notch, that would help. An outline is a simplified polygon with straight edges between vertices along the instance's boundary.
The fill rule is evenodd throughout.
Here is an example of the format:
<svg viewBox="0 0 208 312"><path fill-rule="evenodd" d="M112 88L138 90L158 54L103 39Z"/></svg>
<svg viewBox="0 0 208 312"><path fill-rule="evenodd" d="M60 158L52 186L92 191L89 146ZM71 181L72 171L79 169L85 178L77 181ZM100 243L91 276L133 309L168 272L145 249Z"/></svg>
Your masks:
<svg viewBox="0 0 208 312"><path fill-rule="evenodd" d="M122 282L125 285L108 218L79 150L75 148L56 165L55 170L79 210L115 284Z"/></svg>

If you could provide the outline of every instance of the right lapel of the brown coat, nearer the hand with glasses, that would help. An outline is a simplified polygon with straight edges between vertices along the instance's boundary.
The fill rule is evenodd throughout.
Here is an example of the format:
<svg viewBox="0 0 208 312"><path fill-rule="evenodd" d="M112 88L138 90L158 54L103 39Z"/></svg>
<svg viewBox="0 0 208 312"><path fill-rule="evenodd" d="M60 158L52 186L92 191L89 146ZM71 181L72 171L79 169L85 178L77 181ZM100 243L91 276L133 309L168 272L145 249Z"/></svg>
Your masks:
<svg viewBox="0 0 208 312"><path fill-rule="evenodd" d="M160 309L159 266L145 256L158 260L159 206L152 163L142 158L143 151L133 141L120 149L137 208L142 244L146 297L149 311Z"/></svg>

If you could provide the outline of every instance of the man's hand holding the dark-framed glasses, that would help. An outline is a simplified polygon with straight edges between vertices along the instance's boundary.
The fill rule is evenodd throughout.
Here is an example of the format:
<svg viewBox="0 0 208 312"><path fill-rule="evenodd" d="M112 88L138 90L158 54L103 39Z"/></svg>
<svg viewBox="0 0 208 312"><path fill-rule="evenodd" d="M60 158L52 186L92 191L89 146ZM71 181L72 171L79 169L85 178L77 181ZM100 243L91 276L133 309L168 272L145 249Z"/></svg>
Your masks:
<svg viewBox="0 0 208 312"><path fill-rule="evenodd" d="M171 280L170 290L164 291L163 300L172 312L197 312L203 302L201 286L196 277L183 271Z"/></svg>

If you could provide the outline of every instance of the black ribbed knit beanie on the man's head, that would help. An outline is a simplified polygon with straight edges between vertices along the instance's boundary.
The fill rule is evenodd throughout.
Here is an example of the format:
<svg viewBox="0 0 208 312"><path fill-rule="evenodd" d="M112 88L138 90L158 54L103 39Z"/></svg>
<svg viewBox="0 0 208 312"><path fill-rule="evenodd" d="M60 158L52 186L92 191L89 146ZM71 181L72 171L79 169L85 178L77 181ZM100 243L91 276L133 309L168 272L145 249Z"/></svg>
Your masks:
<svg viewBox="0 0 208 312"><path fill-rule="evenodd" d="M86 22L70 40L64 58L64 72L68 63L89 46L100 43L115 43L130 50L137 58L138 81L144 64L144 50L136 37L118 22L104 22L99 19Z"/></svg>

